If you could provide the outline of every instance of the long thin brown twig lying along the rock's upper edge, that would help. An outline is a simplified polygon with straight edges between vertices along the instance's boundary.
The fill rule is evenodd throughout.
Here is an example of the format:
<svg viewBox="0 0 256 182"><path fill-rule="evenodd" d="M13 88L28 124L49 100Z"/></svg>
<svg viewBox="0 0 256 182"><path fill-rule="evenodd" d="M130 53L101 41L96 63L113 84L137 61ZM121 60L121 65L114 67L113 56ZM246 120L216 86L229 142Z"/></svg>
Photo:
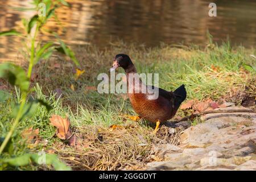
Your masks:
<svg viewBox="0 0 256 182"><path fill-rule="evenodd" d="M199 117L200 115L205 114L214 114L214 113L256 113L256 110L253 109L230 109L230 110L208 110L203 113L191 114L188 117L184 117L179 121L175 121L174 123L179 123L181 121L188 121L190 119L194 119L195 117Z"/></svg>

